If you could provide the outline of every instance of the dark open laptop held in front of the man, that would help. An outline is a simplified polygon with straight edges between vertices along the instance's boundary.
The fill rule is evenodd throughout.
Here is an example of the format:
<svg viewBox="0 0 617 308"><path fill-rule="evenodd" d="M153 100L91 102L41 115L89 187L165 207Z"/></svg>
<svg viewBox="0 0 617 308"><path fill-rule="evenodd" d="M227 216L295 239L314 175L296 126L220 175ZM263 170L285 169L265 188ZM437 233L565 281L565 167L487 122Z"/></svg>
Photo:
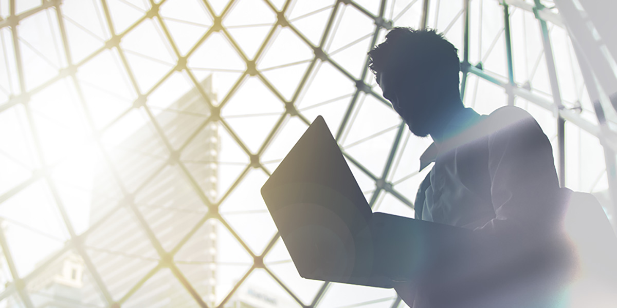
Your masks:
<svg viewBox="0 0 617 308"><path fill-rule="evenodd" d="M373 213L321 116L261 192L304 278L392 288L395 282L421 275L428 264L452 256L448 251L453 244L471 234L449 225Z"/></svg>

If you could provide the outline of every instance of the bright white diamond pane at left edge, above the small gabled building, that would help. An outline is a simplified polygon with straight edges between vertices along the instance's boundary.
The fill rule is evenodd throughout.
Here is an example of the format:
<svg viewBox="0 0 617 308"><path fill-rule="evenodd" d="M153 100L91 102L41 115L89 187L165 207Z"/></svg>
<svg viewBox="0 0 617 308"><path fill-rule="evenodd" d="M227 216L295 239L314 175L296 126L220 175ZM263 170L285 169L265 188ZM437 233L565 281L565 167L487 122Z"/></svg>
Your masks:
<svg viewBox="0 0 617 308"><path fill-rule="evenodd" d="M33 214L36 213L36 214ZM62 216L44 180L24 188L0 206L2 229L17 273L27 275L69 235Z"/></svg>

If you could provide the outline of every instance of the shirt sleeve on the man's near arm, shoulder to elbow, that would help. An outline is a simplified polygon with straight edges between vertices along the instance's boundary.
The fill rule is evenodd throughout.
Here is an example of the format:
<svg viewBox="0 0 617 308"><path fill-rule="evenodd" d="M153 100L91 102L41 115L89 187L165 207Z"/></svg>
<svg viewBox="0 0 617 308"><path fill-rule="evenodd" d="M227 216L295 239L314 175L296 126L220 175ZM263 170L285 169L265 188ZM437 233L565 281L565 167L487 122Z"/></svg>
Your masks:
<svg viewBox="0 0 617 308"><path fill-rule="evenodd" d="M515 249L531 246L554 231L561 217L552 147L536 120L520 108L500 108L489 119L495 217L476 233Z"/></svg>

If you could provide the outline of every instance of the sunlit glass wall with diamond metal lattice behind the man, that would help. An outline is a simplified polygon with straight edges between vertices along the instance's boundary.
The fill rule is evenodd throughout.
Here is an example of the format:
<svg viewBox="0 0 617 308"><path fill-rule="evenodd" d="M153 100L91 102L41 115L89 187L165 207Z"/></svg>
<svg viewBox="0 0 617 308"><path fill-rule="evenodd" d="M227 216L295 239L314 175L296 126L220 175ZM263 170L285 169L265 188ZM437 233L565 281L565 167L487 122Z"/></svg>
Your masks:
<svg viewBox="0 0 617 308"><path fill-rule="evenodd" d="M323 115L373 209L413 217L431 140L366 65L392 26L445 33L465 105L528 110L617 214L615 110L552 1L0 0L0 307L406 307L300 278L259 193Z"/></svg>

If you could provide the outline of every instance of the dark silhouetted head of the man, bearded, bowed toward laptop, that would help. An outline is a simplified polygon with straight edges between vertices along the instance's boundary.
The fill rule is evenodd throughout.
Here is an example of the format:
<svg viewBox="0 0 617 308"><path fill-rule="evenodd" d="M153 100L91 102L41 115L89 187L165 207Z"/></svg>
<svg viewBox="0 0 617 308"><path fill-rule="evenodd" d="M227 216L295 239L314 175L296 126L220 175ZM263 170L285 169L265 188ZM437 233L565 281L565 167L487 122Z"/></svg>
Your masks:
<svg viewBox="0 0 617 308"><path fill-rule="evenodd" d="M460 107L457 49L435 30L394 28L369 53L384 97L413 134L427 136L442 115Z"/></svg>

